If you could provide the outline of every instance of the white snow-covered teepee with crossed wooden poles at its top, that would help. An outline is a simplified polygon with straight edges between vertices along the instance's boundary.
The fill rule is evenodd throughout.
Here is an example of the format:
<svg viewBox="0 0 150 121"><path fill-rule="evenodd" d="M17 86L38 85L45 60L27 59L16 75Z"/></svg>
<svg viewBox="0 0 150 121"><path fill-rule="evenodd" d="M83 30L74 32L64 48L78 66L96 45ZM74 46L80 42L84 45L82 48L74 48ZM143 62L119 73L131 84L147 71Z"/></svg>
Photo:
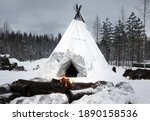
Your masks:
<svg viewBox="0 0 150 121"><path fill-rule="evenodd" d="M76 16L41 70L51 79L68 76L77 81L107 80L114 75L96 45L76 5Z"/></svg>

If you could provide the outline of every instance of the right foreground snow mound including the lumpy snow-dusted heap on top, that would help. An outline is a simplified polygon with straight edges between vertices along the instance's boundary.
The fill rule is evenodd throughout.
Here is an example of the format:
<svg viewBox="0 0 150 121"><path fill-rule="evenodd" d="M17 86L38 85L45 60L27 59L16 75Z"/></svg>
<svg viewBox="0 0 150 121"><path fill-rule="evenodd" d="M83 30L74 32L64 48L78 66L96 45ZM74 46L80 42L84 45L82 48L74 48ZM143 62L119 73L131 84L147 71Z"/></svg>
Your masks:
<svg viewBox="0 0 150 121"><path fill-rule="evenodd" d="M138 103L134 90L127 82L120 82L116 85L108 82L106 85L99 85L91 92L93 95L85 95L73 104L128 104Z"/></svg>

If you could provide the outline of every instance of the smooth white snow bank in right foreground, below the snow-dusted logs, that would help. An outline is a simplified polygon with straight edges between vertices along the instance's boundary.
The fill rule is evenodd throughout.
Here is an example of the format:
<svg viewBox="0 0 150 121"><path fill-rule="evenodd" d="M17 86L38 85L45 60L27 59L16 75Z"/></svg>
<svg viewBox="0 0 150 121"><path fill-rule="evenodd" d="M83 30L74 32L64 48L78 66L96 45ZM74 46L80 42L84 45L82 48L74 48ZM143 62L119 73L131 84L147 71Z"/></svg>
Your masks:
<svg viewBox="0 0 150 121"><path fill-rule="evenodd" d="M86 95L74 101L73 104L127 104L137 103L132 93L125 93L119 89L104 89L93 95Z"/></svg>

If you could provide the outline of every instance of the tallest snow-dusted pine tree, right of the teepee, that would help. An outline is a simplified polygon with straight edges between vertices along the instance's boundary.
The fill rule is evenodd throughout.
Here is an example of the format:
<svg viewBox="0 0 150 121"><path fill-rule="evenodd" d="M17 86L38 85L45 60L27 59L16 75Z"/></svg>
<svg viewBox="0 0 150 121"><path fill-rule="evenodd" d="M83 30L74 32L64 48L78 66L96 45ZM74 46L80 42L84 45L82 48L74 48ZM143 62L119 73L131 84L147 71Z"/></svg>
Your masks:
<svg viewBox="0 0 150 121"><path fill-rule="evenodd" d="M139 18L136 17L134 12L131 13L128 21L126 22L127 30L127 47L128 47L128 56L131 60L131 64L134 61L141 62L142 58L142 44L143 42L143 24Z"/></svg>

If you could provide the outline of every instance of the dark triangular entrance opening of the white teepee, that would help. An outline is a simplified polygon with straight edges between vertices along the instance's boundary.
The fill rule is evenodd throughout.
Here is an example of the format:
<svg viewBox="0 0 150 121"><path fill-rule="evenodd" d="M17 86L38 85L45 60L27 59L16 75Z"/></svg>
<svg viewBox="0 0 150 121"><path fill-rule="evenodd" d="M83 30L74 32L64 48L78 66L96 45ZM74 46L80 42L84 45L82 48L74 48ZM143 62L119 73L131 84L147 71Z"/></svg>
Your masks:
<svg viewBox="0 0 150 121"><path fill-rule="evenodd" d="M71 63L68 69L66 70L66 77L77 77L78 71L74 67L74 65Z"/></svg>

